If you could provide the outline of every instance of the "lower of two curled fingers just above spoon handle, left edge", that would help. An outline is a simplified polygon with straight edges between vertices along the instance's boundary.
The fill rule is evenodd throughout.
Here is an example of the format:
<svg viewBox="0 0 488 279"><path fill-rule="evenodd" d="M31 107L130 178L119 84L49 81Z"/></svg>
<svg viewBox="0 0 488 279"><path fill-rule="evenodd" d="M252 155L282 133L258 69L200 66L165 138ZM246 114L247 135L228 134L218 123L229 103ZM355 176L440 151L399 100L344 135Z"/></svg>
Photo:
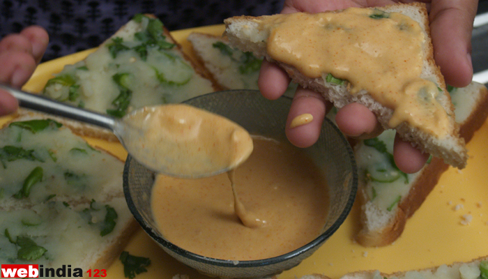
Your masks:
<svg viewBox="0 0 488 279"><path fill-rule="evenodd" d="M33 56L22 50L1 52L0 65L0 82L17 88L27 82L36 69Z"/></svg>

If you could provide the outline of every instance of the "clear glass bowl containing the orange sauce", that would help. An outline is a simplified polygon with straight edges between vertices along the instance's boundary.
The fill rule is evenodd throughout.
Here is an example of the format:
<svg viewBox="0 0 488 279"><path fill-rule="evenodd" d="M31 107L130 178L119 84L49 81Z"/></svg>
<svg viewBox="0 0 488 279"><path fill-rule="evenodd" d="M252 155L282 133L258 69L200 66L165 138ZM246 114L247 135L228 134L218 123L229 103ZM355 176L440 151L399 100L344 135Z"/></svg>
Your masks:
<svg viewBox="0 0 488 279"><path fill-rule="evenodd" d="M284 126L291 98L267 100L259 91L231 90L208 93L185 101L220 114L246 128L250 134L286 140ZM351 146L340 130L325 119L319 140L303 149L327 179L330 197L328 218L316 239L287 254L269 259L236 261L213 259L189 252L165 239L151 213L151 190L156 174L128 156L123 172L125 199L144 231L169 255L209 276L263 278L281 273L312 255L344 222L351 211L358 187L356 162Z"/></svg>

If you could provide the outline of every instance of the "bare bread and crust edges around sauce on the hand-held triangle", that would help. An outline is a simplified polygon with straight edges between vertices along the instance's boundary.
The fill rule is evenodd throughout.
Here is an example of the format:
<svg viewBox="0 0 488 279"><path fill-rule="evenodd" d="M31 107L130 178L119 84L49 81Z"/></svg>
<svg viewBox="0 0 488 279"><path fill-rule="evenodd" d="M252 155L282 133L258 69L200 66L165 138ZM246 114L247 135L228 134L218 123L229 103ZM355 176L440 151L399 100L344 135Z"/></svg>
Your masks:
<svg viewBox="0 0 488 279"><path fill-rule="evenodd" d="M429 22L427 9L422 3L409 3L409 4L395 4L384 7L376 7L377 10L382 10L386 13L402 13L408 15L413 20L418 22L422 31L425 33L425 38L430 38L429 34ZM338 13L340 11L328 12ZM301 86L308 87L314 91L318 91L323 94L324 98L334 103L336 107L344 107L349 103L361 103L367 106L374 114L376 114L379 122L384 128L390 128L388 121L392 117L392 109L378 103L371 95L365 90L358 93L350 93L348 83L337 84L335 82L327 82L326 75L328 73L322 73L322 77L310 78L306 77L303 73L300 73L297 68L275 61L267 52L267 40L270 36L272 27L264 24L264 20L269 17L282 17L286 18L287 15L270 15L261 17L231 17L224 20L226 24L226 30L224 35L229 38L229 42L232 46L238 47L245 52L253 52L254 55L264 56L269 61L277 62L286 72L290 75L294 82L297 82ZM297 36L300 36L298 34ZM306 41L306 38L297 38L298 40ZM443 76L440 73L439 67L436 66L433 59L432 43L430 39L427 39L422 48L423 54L423 66L421 78L426 80L432 80L438 84L441 93L436 99L442 105L445 112L448 114L449 127L448 136L435 137L429 133L409 126L406 122L399 124L395 127L399 135L404 140L407 140L417 146L420 150L432 154L433 156L443 158L445 163L453 165L455 167L463 168L466 165L467 153L464 144L464 140L459 137L459 127L455 123L452 103L448 92L445 90L445 82Z"/></svg>

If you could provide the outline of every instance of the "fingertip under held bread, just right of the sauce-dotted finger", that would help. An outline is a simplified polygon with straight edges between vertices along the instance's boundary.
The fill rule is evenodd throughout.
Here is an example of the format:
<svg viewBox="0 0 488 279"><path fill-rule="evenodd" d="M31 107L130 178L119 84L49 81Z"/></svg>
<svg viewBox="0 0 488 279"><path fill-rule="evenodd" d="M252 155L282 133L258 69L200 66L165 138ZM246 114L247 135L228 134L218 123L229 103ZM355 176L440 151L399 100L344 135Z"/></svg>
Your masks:
<svg viewBox="0 0 488 279"><path fill-rule="evenodd" d="M350 103L338 110L335 122L342 133L350 137L376 137L383 131L376 115L358 103Z"/></svg>

